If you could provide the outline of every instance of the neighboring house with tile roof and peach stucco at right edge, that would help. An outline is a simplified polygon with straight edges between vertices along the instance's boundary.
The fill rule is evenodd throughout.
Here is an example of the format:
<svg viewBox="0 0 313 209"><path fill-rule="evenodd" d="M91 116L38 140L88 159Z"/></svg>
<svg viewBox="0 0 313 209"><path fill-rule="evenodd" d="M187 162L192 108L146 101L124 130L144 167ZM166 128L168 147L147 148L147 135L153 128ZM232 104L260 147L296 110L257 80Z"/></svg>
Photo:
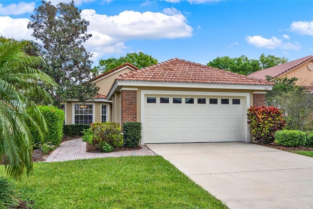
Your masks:
<svg viewBox="0 0 313 209"><path fill-rule="evenodd" d="M266 76L277 78L298 78L297 85L313 85L313 55L306 56L281 65L254 72L249 77L266 79Z"/></svg>

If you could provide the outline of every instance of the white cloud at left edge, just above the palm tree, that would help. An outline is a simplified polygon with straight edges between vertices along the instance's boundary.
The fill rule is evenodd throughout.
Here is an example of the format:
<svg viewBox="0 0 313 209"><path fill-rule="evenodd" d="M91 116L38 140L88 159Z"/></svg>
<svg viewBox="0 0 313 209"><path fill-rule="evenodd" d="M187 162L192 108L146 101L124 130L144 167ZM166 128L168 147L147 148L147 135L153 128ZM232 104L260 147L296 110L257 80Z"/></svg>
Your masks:
<svg viewBox="0 0 313 209"><path fill-rule="evenodd" d="M27 28L29 19L27 18L10 18L8 16L0 16L0 34L6 38L14 38L16 40L34 40L31 36L32 30Z"/></svg>

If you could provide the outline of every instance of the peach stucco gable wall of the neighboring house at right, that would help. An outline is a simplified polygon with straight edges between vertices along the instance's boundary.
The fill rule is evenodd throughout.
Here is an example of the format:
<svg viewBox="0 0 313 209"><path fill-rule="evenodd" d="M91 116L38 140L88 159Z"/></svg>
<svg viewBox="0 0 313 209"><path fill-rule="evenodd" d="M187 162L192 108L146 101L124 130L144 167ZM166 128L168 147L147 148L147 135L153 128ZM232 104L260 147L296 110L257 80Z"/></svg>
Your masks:
<svg viewBox="0 0 313 209"><path fill-rule="evenodd" d="M287 78L299 78L296 81L297 85L311 85L313 83L313 70L309 70L308 68L308 64L312 63L313 64L313 60L306 62L298 67L296 67L295 69L279 76L279 78L285 78L287 76Z"/></svg>

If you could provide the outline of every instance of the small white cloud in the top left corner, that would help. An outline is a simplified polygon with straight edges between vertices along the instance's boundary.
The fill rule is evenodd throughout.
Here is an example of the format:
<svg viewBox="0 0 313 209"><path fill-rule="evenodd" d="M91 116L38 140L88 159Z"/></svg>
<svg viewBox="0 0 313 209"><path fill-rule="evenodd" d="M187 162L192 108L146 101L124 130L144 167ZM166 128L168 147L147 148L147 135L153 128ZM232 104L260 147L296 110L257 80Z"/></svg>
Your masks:
<svg viewBox="0 0 313 209"><path fill-rule="evenodd" d="M6 16L31 13L34 11L34 8L35 2L19 2L18 4L11 3L7 6L3 6L3 4L0 4L0 15Z"/></svg>

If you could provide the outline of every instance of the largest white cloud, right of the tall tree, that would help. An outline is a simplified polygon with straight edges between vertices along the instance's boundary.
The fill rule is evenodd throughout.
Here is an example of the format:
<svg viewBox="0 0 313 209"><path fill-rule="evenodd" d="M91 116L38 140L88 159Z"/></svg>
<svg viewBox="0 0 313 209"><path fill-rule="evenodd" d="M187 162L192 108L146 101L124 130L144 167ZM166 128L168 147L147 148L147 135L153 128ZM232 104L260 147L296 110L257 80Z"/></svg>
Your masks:
<svg viewBox="0 0 313 209"><path fill-rule="evenodd" d="M176 9L159 12L123 11L115 16L97 14L93 9L82 10L82 18L89 21L92 37L84 44L94 56L125 50L124 43L131 39L161 39L192 36L193 29ZM175 12L176 11L176 12ZM95 60L95 57L93 58Z"/></svg>

